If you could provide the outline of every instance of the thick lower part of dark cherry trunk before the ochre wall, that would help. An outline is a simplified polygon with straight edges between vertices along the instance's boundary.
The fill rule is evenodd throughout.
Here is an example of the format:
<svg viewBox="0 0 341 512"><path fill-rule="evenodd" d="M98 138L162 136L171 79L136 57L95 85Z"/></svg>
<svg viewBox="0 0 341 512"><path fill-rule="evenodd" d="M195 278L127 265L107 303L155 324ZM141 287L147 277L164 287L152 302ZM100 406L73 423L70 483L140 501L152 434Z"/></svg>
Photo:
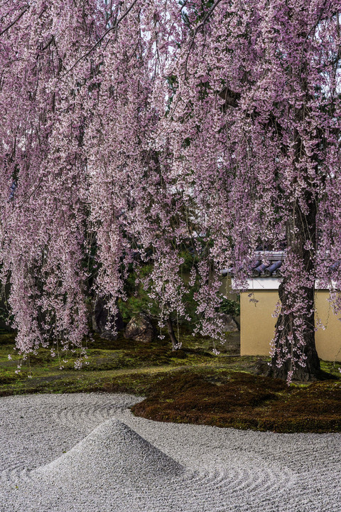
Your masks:
<svg viewBox="0 0 341 512"><path fill-rule="evenodd" d="M315 282L313 277L310 283L304 279L300 283L299 279L300 263L305 275L314 275L312 255L315 254L316 245L316 206L314 198L308 193L305 199L309 205L308 213L303 213L296 203L293 206L293 215L287 230L288 257L298 263L298 273L286 275L278 289L281 312L276 322L276 352L272 358L269 373L283 380L287 379L288 375L295 380L315 380L320 373L320 361L315 348ZM310 249L307 248L307 242ZM303 314L300 314L297 307L300 304L299 301L304 303ZM302 340L304 347L301 351L305 356L303 366L298 362L293 363L293 359L299 358ZM290 354L289 358L286 357L288 354ZM280 364L281 360L282 364Z"/></svg>

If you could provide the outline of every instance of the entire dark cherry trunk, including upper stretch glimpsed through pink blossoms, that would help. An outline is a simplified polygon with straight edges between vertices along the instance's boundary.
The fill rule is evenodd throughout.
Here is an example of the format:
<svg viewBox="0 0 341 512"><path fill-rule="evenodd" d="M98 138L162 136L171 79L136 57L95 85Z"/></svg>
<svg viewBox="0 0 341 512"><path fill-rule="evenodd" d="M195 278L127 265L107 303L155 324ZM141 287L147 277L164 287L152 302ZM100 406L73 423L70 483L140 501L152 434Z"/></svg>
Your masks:
<svg viewBox="0 0 341 512"><path fill-rule="evenodd" d="M308 37L308 35L306 36ZM301 107L298 107L295 112L297 126L301 129L304 126L305 115L309 110L309 102L312 99L310 97L309 87L305 78L307 71L307 65L303 58L301 62L301 71L298 77L298 81L301 82L302 92L305 97L305 102ZM276 123L278 127L278 123ZM278 132L281 137L281 129ZM312 137L312 134L308 134L308 137ZM315 137L320 138L321 134L316 134ZM314 137L314 136L313 136ZM283 139L282 139L283 140ZM293 129L293 141L295 144L295 159L293 165L296 166L295 176L301 176L305 180L306 188L303 200L305 202L305 208L301 207L299 199L288 198L289 210L291 210L291 218L288 220L286 228L286 237L288 245L288 257L291 258L292 263L299 262L302 265L302 272L305 276L310 276L306 283L300 283L298 276L293 277L286 274L283 278L283 282L278 289L279 299L281 301L281 312L276 322L276 334L275 344L279 351L283 348L288 349L291 352L293 358L299 356L300 336L304 341L303 354L305 356L304 364L294 363L291 358L284 358L283 364L278 367L276 353L271 361L271 374L275 378L287 379L288 376L295 380L316 380L320 374L320 361L318 353L315 347L315 264L314 257L316 255L317 240L316 240L316 217L318 211L317 196L318 193L312 185L312 178L309 175L308 169L302 169L301 163L307 158L305 151L305 144L301 137L301 133L297 128ZM288 148L286 144L283 144L282 151L286 154ZM309 157L310 158L310 157ZM313 156L316 159L316 156ZM318 161L314 161L315 175L318 176ZM296 180L294 178L291 184L291 189L295 189ZM317 180L318 182L318 180ZM289 284L289 286L287 286ZM295 289L295 284L297 289ZM298 301L304 300L305 305L303 306L302 314L298 313L298 309L295 306ZM291 313L293 309L293 313ZM288 312L289 311L289 312ZM295 321L301 321L302 324L298 328ZM289 335L289 339L288 339ZM290 341L290 337L293 338ZM292 374L291 374L292 372ZM290 380L290 379L289 379Z"/></svg>

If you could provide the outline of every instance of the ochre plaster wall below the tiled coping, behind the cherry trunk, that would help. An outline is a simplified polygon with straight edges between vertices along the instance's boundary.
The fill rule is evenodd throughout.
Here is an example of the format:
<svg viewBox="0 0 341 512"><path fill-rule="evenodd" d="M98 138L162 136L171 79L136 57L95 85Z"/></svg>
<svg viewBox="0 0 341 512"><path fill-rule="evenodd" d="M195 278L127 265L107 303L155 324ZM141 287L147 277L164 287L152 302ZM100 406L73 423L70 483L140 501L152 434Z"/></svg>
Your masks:
<svg viewBox="0 0 341 512"><path fill-rule="evenodd" d="M326 329L315 334L318 356L325 361L341 361L341 321L328 302L329 292L316 294L316 310ZM250 302L249 292L240 294L240 353L242 356L269 356L276 319L271 316L278 302L277 290L255 290Z"/></svg>

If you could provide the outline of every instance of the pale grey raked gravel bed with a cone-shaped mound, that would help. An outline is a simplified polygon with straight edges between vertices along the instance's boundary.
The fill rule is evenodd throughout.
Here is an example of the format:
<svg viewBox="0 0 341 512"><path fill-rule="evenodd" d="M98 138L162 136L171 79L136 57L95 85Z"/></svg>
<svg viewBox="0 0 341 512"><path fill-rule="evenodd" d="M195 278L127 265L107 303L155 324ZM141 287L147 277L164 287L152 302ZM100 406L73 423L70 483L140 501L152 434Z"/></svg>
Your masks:
<svg viewBox="0 0 341 512"><path fill-rule="evenodd" d="M153 422L139 400L0 398L0 511L341 511L341 434Z"/></svg>

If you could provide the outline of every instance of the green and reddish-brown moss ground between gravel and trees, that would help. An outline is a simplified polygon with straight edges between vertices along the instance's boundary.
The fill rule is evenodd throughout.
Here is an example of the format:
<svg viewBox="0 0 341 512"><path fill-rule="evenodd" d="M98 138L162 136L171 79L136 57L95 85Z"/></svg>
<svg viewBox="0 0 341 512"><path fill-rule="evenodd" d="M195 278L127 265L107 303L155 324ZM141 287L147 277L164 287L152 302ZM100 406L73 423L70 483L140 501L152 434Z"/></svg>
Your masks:
<svg viewBox="0 0 341 512"><path fill-rule="evenodd" d="M227 334L220 355L209 338L181 333L183 348L171 352L167 337L136 343L94 335L88 365L75 370L77 353L51 356L41 349L21 364L13 334L0 333L0 395L24 393L126 392L144 395L136 415L275 432L341 432L340 364L321 361L321 380L287 386L259 375L266 358L238 356L238 334ZM9 360L8 355L11 355ZM60 366L63 369L60 370Z"/></svg>

